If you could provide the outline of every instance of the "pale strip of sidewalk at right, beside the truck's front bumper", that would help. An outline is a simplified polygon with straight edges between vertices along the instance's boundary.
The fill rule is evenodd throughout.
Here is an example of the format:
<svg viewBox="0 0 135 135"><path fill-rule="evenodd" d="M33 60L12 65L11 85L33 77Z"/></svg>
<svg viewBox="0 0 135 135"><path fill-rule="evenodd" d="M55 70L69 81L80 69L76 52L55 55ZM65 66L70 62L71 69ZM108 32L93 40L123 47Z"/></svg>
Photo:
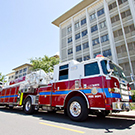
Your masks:
<svg viewBox="0 0 135 135"><path fill-rule="evenodd" d="M109 116L114 117L126 117L126 118L135 118L135 110L129 111L129 112L120 112L120 113L112 113Z"/></svg>

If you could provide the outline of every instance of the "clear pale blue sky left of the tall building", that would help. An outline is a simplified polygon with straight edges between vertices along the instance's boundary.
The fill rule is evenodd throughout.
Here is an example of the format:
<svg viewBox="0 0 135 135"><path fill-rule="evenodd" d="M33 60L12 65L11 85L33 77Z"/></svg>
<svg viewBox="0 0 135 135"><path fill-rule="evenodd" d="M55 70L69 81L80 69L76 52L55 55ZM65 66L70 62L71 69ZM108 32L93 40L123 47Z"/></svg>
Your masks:
<svg viewBox="0 0 135 135"><path fill-rule="evenodd" d="M0 72L30 58L59 51L59 28L51 22L81 0L0 0Z"/></svg>

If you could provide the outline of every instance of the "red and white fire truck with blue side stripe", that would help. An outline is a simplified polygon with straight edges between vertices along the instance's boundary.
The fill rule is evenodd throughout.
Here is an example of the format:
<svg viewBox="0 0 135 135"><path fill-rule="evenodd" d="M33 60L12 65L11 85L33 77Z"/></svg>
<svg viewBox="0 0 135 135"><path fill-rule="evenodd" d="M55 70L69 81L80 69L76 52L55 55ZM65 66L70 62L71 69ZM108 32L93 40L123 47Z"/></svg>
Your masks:
<svg viewBox="0 0 135 135"><path fill-rule="evenodd" d="M108 58L71 60L54 66L54 73L34 71L0 90L0 105L35 110L64 110L75 121L88 114L106 116L129 110L129 84L120 66Z"/></svg>

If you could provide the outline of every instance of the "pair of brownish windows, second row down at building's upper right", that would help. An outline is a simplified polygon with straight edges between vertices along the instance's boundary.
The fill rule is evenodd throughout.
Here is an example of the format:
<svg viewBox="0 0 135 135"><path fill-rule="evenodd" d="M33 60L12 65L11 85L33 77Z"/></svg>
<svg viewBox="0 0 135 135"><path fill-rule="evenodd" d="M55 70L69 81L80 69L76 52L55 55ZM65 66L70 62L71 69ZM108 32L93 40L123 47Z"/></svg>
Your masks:
<svg viewBox="0 0 135 135"><path fill-rule="evenodd" d="M125 17L128 17L130 15L131 15L130 9L121 13L122 19L124 19ZM119 20L120 20L119 15L116 15L116 16L114 16L114 17L111 18L111 22L112 23L117 22Z"/></svg>

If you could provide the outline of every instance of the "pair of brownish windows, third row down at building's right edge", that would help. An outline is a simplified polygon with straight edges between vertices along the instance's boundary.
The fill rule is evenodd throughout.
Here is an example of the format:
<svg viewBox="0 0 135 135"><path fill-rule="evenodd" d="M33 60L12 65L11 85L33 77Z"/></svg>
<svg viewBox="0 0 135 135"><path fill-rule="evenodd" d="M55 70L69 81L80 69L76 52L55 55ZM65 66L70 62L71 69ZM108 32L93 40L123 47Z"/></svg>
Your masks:
<svg viewBox="0 0 135 135"><path fill-rule="evenodd" d="M124 31L125 31L125 34L128 34L128 33L130 33L130 32L135 31L135 26L134 26L134 24L132 24L132 25L130 25L130 26L124 27ZM119 29L119 30L117 30L117 31L114 31L114 32L113 32L113 35L114 35L114 37L122 36L122 35L123 35L122 29Z"/></svg>

